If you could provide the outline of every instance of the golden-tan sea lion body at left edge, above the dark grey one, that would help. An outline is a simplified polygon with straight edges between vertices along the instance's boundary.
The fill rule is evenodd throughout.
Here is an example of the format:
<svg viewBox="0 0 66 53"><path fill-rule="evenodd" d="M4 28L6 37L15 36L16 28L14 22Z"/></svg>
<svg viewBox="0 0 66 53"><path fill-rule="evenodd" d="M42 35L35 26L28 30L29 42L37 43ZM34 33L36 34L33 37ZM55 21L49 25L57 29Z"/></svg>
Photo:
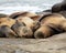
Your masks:
<svg viewBox="0 0 66 53"><path fill-rule="evenodd" d="M15 20L10 19L10 18L0 18L0 26L1 25L8 25L8 26L12 26L15 23Z"/></svg>

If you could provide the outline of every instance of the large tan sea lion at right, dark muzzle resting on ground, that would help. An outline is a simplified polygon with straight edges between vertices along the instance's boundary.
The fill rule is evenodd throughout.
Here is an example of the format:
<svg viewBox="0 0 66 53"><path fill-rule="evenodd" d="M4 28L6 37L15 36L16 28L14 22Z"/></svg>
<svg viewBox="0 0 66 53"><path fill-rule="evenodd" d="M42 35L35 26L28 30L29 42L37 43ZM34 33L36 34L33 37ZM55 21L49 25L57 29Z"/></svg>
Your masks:
<svg viewBox="0 0 66 53"><path fill-rule="evenodd" d="M59 26L63 20L65 20L65 18L58 13L50 14L45 18L42 18L40 20L42 25L38 30L36 30L34 36L40 38L41 35L41 38L47 38L53 34L64 32L64 30Z"/></svg>

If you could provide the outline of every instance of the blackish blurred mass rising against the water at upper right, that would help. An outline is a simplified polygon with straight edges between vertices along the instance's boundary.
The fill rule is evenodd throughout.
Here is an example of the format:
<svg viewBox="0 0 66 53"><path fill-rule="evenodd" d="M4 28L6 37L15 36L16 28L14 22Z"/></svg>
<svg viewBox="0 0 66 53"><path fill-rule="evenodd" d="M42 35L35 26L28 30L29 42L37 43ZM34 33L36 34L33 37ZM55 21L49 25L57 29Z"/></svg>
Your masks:
<svg viewBox="0 0 66 53"><path fill-rule="evenodd" d="M66 11L66 1L56 3L52 7L52 12L59 12L59 11Z"/></svg>

